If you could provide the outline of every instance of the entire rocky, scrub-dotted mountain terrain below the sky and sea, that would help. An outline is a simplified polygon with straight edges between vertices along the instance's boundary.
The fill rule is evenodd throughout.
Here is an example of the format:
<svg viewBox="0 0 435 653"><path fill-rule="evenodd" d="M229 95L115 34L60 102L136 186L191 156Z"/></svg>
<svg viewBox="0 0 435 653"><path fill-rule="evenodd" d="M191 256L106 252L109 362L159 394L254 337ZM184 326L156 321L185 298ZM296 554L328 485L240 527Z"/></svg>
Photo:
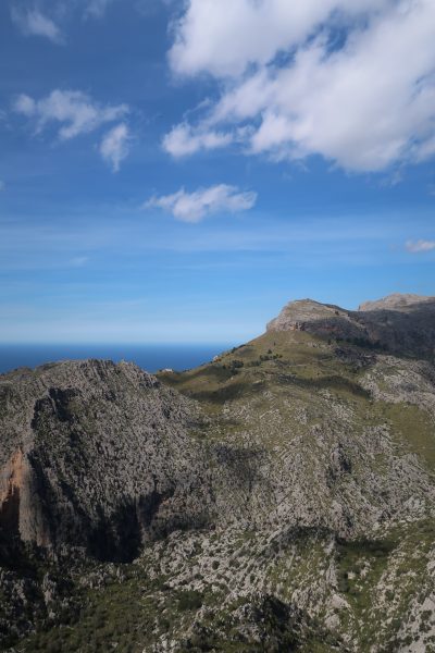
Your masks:
<svg viewBox="0 0 435 653"><path fill-rule="evenodd" d="M0 375L3 650L435 650L434 318L306 299L186 372Z"/></svg>

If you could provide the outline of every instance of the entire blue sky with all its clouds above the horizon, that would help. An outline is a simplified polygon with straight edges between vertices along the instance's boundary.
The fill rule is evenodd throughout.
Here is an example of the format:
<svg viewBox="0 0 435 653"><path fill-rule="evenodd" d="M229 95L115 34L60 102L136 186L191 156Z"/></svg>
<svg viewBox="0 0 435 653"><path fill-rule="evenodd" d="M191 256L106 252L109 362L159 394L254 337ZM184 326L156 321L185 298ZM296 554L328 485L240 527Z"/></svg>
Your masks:
<svg viewBox="0 0 435 653"><path fill-rule="evenodd" d="M435 295L433 0L2 0L0 342Z"/></svg>

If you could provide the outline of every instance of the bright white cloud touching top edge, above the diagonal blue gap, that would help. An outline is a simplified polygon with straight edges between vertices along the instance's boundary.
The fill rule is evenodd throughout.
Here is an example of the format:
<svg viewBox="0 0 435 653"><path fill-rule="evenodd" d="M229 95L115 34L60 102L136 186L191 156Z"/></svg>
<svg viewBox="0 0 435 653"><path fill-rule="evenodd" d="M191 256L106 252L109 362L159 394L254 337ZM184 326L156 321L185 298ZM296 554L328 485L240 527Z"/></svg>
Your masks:
<svg viewBox="0 0 435 653"><path fill-rule="evenodd" d="M335 12L340 25L390 0L188 0L175 24L173 70L215 76L240 75L248 64L266 64L291 50Z"/></svg>

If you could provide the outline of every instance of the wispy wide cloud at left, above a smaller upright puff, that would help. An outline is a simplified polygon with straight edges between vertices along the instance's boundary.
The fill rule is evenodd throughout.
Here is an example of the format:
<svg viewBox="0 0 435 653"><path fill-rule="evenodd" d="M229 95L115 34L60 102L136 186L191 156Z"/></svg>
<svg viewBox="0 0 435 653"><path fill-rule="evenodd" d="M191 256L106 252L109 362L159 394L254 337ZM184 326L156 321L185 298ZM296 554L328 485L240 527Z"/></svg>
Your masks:
<svg viewBox="0 0 435 653"><path fill-rule="evenodd" d="M59 89L40 100L21 95L14 109L29 119L35 119L38 132L50 123L59 124L58 135L61 140L92 132L102 124L114 122L128 113L126 104L101 106L79 90Z"/></svg>

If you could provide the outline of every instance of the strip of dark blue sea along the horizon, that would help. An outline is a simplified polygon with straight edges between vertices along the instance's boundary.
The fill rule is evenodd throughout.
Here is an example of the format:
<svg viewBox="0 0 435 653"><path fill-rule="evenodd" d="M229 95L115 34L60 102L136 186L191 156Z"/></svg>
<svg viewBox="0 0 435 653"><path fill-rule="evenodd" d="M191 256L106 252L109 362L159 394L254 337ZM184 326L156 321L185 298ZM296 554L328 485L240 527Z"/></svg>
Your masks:
<svg viewBox="0 0 435 653"><path fill-rule="evenodd" d="M135 362L148 372L161 369L188 370L212 360L233 344L210 345L4 345L0 344L0 373L27 367L35 368L58 360L102 358Z"/></svg>

